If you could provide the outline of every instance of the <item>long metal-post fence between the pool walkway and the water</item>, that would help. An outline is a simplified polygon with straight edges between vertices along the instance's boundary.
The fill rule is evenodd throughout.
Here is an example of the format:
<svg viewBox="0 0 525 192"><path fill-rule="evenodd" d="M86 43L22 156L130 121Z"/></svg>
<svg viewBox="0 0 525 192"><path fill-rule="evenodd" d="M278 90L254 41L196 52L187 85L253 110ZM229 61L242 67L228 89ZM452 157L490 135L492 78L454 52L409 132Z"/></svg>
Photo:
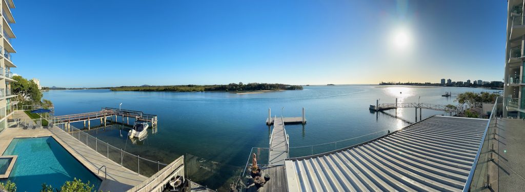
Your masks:
<svg viewBox="0 0 525 192"><path fill-rule="evenodd" d="M157 173L159 170L167 166L167 164L162 163L161 161L154 161L140 157L139 155L134 155L128 151L122 150L122 148L117 148L110 145L108 142L103 142L97 137L93 137L90 134L83 132L82 130L65 124L56 125L58 128L71 135L73 138L76 138L81 143L90 147L91 149L97 151L102 156L114 161L121 166L128 168L135 173L140 175L150 177L153 174Z"/></svg>

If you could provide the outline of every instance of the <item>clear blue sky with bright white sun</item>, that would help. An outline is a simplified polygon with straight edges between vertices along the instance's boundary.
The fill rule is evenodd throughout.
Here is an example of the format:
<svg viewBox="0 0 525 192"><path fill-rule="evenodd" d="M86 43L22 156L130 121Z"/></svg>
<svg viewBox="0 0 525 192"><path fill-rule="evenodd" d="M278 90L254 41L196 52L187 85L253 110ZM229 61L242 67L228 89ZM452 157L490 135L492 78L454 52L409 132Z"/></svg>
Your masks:
<svg viewBox="0 0 525 192"><path fill-rule="evenodd" d="M507 1L17 1L43 86L501 80Z"/></svg>

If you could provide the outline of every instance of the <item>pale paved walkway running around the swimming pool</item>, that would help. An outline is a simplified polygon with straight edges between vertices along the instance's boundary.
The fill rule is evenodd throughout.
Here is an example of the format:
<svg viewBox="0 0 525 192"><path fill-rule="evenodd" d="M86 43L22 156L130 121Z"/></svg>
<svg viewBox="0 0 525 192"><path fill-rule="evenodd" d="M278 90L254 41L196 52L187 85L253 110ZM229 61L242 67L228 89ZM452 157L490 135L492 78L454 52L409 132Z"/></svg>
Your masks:
<svg viewBox="0 0 525 192"><path fill-rule="evenodd" d="M57 140L62 147L79 160L81 164L86 166L92 173L95 173L95 175L97 175L99 167L106 165L108 171L107 179L104 180L104 169L102 169L98 175L98 177L102 179L99 190L125 191L140 184L146 179L146 177L127 168L121 167L119 164L107 159L57 127L49 129L6 128L0 133L0 154L4 153L4 150L13 138L45 136L51 136Z"/></svg>

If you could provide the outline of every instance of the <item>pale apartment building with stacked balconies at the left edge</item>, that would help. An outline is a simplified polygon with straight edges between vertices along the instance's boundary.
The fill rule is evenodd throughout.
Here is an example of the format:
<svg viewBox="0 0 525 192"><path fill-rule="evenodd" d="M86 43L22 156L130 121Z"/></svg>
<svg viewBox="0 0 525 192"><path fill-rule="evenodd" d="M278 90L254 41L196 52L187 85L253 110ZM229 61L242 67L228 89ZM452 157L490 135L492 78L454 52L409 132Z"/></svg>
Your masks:
<svg viewBox="0 0 525 192"><path fill-rule="evenodd" d="M12 94L11 83L15 82L11 68L16 67L13 63L11 54L16 53L13 48L12 39L16 38L13 30L9 26L15 23L15 18L11 9L15 8L13 0L2 0L2 43L0 45L0 132L8 127L7 119L14 113L16 95Z"/></svg>

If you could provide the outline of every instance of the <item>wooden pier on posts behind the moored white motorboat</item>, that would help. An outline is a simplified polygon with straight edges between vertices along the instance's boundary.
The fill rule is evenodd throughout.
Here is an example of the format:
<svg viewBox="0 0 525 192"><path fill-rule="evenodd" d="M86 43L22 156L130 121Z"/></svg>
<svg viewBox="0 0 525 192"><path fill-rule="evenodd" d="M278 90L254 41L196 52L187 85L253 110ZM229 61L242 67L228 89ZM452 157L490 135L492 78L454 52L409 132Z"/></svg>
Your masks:
<svg viewBox="0 0 525 192"><path fill-rule="evenodd" d="M127 110L127 109L117 109L110 107L103 107L98 112L89 112L81 114L71 114L71 115L61 115L53 117L52 121L54 125L65 124L66 127L69 127L71 123L83 122L84 127L91 128L91 120L100 120L100 125L107 125L107 122L119 122L118 117L121 117L122 124L130 124L130 117L135 120L135 122L147 122L152 127L157 126L157 116L151 114L144 114L136 110ZM109 119L108 119L109 118ZM125 121L124 121L125 120ZM120 122L119 122L120 123Z"/></svg>

